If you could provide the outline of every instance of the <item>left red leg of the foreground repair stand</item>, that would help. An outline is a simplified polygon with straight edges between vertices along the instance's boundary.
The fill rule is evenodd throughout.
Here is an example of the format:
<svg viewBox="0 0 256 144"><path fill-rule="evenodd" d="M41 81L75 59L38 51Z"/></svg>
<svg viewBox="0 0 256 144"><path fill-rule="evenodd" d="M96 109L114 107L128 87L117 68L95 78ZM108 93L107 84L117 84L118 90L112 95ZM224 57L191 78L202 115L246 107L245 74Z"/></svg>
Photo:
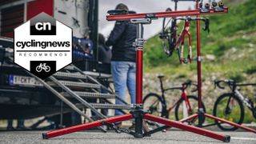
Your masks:
<svg viewBox="0 0 256 144"><path fill-rule="evenodd" d="M81 124L81 125L77 125L77 126L70 126L67 128L60 129L60 130L53 130L53 131L47 132L45 134L42 134L42 137L44 139L54 138L54 137L58 137L58 136L64 135L64 134L70 134L70 133L74 133L77 131L88 130L88 129L91 129L94 127L102 126L102 122L109 122L109 123L122 122L122 121L129 120L131 118L133 118L132 114L125 114L125 115L117 116L114 118L106 118L106 119L102 119L102 120L95 121L95 122L89 122L89 123L85 123L85 124Z"/></svg>

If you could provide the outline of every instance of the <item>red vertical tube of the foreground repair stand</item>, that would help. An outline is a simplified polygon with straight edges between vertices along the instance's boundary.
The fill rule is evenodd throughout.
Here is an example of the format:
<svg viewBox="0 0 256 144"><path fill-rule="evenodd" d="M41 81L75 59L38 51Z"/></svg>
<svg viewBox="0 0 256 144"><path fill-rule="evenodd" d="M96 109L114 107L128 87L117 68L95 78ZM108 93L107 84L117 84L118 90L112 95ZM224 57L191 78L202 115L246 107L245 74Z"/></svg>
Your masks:
<svg viewBox="0 0 256 144"><path fill-rule="evenodd" d="M136 104L142 104L143 48L136 51Z"/></svg>

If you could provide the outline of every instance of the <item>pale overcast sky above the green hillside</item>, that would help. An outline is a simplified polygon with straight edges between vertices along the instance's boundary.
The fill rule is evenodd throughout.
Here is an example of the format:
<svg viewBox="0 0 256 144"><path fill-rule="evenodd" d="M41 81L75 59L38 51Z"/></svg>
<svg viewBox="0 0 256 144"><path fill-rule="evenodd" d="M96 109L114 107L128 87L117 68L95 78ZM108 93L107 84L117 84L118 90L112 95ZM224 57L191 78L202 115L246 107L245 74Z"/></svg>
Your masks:
<svg viewBox="0 0 256 144"><path fill-rule="evenodd" d="M106 12L108 10L114 10L118 3L124 3L128 6L129 10L134 10L137 13L150 13L150 12L162 12L167 7L174 10L174 2L171 0L99 0L99 33L109 36L110 31L114 27L114 22L106 21ZM195 2L178 2L178 10L187 10L189 7L194 9ZM162 18L154 20L152 24L145 26L145 38L150 38L154 34L162 29Z"/></svg>

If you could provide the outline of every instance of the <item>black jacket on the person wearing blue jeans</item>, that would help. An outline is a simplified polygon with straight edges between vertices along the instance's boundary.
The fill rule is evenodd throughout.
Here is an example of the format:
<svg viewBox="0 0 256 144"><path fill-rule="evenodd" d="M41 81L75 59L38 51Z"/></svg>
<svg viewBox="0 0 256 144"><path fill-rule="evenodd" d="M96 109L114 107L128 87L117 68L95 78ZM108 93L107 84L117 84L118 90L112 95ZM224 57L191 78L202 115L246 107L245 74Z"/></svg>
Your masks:
<svg viewBox="0 0 256 144"><path fill-rule="evenodd" d="M128 21L115 23L114 30L111 31L110 37L106 41L106 46L113 46L112 61L136 61L136 53L133 46L136 34L136 25Z"/></svg>

